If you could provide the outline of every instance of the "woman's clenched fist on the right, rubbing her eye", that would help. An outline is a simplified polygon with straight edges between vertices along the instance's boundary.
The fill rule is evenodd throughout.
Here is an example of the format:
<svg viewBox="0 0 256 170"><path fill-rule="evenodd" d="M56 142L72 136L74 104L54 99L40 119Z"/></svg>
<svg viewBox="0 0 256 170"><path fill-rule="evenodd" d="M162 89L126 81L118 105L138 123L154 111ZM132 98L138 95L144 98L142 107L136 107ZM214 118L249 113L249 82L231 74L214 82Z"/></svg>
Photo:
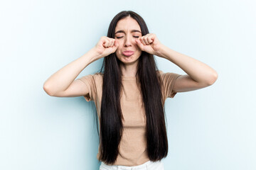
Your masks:
<svg viewBox="0 0 256 170"><path fill-rule="evenodd" d="M148 33L135 41L142 51L159 56L162 44L154 33Z"/></svg>

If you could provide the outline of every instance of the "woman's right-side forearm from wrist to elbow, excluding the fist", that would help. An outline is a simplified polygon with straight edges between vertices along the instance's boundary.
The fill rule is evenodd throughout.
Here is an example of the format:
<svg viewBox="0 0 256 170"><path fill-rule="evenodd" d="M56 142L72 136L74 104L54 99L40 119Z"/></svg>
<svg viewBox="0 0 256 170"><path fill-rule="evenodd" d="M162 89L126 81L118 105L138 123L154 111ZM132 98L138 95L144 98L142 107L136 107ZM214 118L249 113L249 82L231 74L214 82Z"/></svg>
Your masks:
<svg viewBox="0 0 256 170"><path fill-rule="evenodd" d="M192 57L183 55L179 52L171 50L169 47L162 45L161 50L159 50L159 57L164 57L167 60L173 62L178 67L183 69L191 79L202 84L213 84L218 74L217 72L209 67L207 64L200 62Z"/></svg>

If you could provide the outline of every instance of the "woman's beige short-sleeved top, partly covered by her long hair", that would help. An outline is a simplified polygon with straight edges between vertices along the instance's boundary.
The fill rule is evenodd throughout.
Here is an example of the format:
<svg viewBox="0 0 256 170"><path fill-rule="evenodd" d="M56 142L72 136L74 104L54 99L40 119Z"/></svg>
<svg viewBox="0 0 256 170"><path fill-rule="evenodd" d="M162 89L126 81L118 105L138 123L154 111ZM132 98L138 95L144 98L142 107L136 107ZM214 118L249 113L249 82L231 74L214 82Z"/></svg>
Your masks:
<svg viewBox="0 0 256 170"><path fill-rule="evenodd" d="M159 71L163 82L162 94L166 98L174 98L176 93L172 91L175 80L181 76L176 73L164 73ZM102 99L102 74L89 74L79 79L85 83L89 94L85 95L86 101L94 101L100 118L100 107ZM119 154L114 165L137 166L149 161L146 152L146 120L144 109L142 109L142 96L136 82L136 77L122 77L124 90L121 93L121 108L123 121L123 134L119 144ZM99 148L100 149L100 148ZM100 157L97 154L97 159Z"/></svg>

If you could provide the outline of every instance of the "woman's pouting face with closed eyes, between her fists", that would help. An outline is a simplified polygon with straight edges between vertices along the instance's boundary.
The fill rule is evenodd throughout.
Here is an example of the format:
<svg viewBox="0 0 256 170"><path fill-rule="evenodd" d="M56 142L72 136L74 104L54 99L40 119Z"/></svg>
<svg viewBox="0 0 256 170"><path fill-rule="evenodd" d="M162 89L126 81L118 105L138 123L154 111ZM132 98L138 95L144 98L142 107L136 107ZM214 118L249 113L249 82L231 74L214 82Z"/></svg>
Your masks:
<svg viewBox="0 0 256 170"><path fill-rule="evenodd" d="M138 62L142 50L135 42L139 37L142 37L142 30L139 23L132 17L126 17L117 22L114 31L114 39L117 39L119 46L115 52L117 58L124 64L134 64Z"/></svg>

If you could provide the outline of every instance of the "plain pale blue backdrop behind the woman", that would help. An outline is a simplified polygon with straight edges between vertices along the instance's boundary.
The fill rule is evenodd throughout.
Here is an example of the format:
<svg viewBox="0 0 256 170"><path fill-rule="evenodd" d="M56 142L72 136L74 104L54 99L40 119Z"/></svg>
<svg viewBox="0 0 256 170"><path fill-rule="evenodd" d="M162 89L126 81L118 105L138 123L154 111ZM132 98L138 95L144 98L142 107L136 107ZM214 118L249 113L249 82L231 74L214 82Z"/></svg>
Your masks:
<svg viewBox="0 0 256 170"><path fill-rule="evenodd" d="M107 35L123 10L172 50L213 67L207 88L166 99L166 169L256 169L255 1L0 2L0 169L98 169L95 105L51 97L43 83ZM160 70L186 74L156 56ZM97 72L93 62L78 77Z"/></svg>

